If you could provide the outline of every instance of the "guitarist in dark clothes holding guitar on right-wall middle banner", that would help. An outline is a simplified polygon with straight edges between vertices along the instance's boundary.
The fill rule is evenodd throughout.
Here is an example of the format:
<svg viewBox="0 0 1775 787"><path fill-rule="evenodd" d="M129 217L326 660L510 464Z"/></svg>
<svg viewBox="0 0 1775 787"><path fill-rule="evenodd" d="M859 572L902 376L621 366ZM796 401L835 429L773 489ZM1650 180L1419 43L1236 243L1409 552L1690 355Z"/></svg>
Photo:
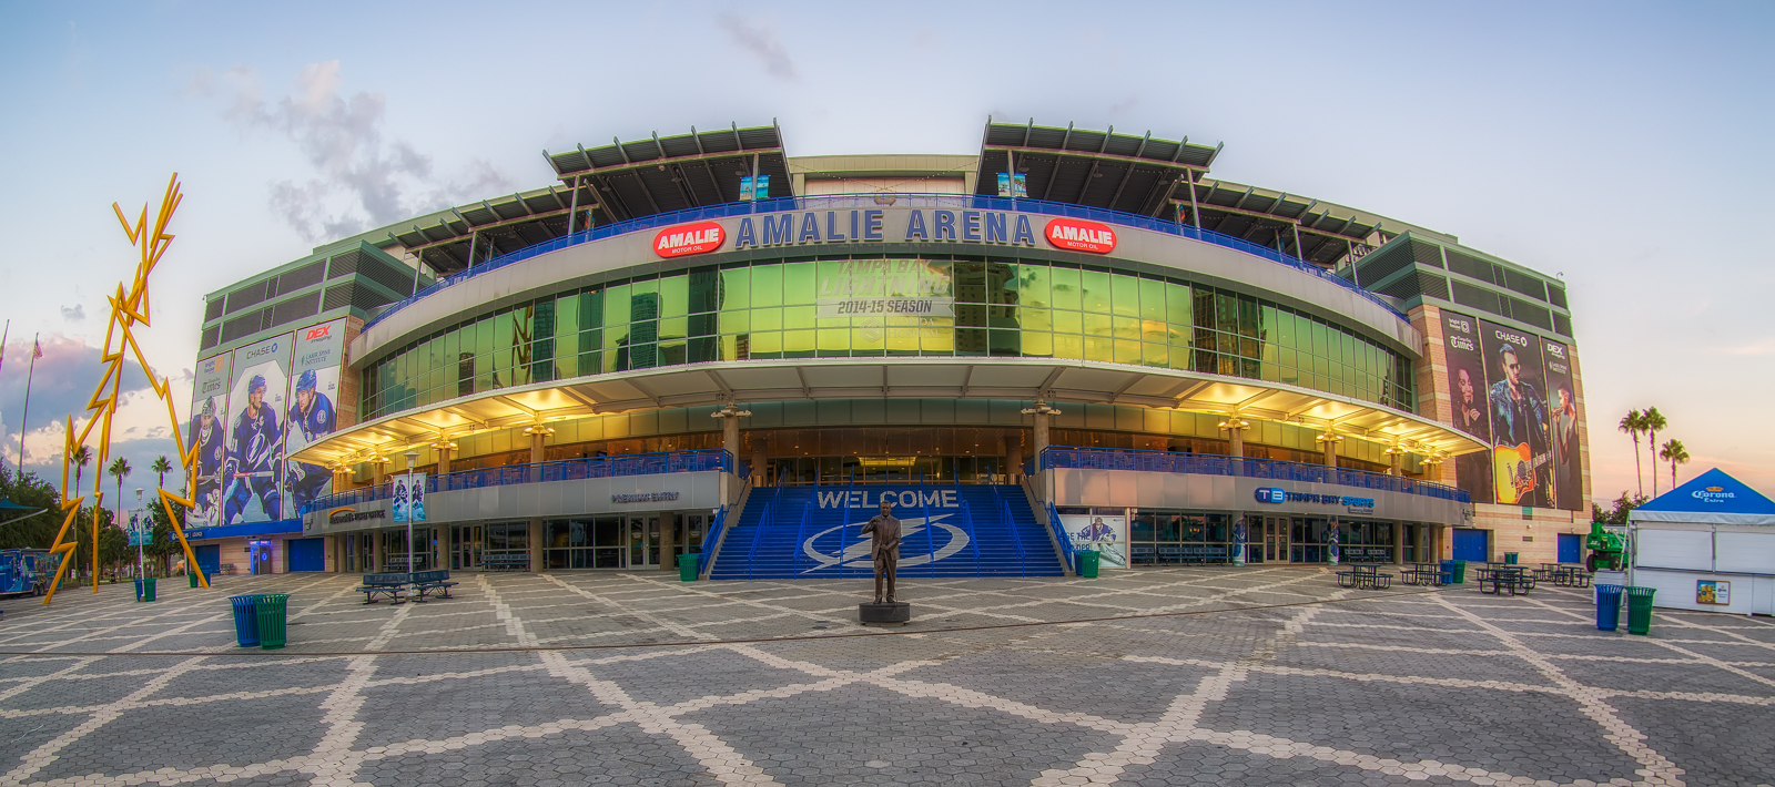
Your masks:
<svg viewBox="0 0 1775 787"><path fill-rule="evenodd" d="M1551 507L1546 496L1548 440L1546 399L1523 379L1523 363L1514 344L1498 349L1503 379L1491 385L1491 443L1496 447L1500 503L1514 489L1518 505Z"/></svg>

